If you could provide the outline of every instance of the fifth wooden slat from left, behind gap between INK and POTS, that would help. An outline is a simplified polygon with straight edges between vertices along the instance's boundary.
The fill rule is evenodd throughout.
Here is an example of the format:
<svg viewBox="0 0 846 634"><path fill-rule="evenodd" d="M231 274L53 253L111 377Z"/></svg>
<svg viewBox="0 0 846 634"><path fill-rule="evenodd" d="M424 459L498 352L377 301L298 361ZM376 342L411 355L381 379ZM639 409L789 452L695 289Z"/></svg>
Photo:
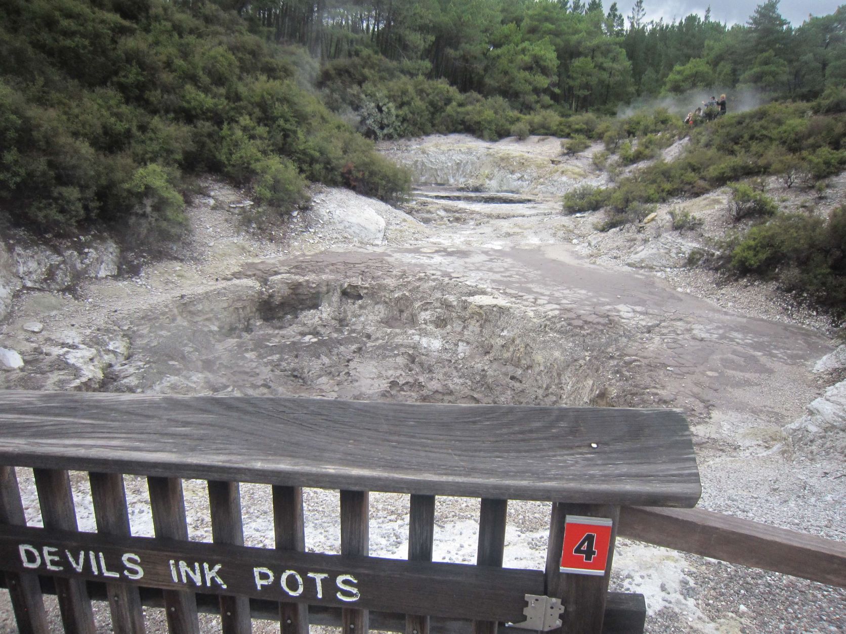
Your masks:
<svg viewBox="0 0 846 634"><path fill-rule="evenodd" d="M237 482L209 480L211 538L220 544L244 545L244 522L241 517L241 492ZM221 595L220 618L223 634L250 634L250 599Z"/></svg>

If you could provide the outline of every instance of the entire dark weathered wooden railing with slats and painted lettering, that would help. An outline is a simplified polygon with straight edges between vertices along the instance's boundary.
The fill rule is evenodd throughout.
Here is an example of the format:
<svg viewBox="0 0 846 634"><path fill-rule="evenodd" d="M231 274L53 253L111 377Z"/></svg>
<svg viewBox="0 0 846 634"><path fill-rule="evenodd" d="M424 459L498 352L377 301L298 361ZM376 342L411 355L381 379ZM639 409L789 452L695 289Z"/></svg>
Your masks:
<svg viewBox="0 0 846 634"><path fill-rule="evenodd" d="M566 632L643 631L643 597L607 592L616 534L834 585L846 571L843 544L660 508L700 495L667 410L6 391L0 465L0 581L24 632L49 631L43 592L69 632L95 631L106 599L120 632L151 605L173 632L214 611L225 632L487 634L525 620L526 594L561 599ZM14 467L34 470L42 528ZM88 472L96 533L77 530L69 470ZM146 476L155 538L130 534L124 474ZM207 482L211 543L188 539L182 478ZM244 546L239 483L272 485L275 549ZM340 555L306 552L302 487L340 490ZM408 560L369 556L369 491L410 495ZM476 566L431 562L437 495L481 499ZM508 500L552 502L545 570L502 567ZM574 516L613 526L599 574L559 570Z"/></svg>

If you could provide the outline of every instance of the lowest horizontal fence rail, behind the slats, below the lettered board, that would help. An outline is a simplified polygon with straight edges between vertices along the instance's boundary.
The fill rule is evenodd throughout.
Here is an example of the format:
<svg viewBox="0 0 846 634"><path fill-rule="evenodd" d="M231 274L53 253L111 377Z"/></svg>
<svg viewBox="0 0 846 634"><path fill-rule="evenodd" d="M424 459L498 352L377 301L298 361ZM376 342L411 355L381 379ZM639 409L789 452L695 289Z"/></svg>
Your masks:
<svg viewBox="0 0 846 634"><path fill-rule="evenodd" d="M106 600L106 587L102 583L88 582L88 592L91 598ZM3 588L3 578L0 577L0 588ZM47 594L55 594L52 577L41 577L41 590ZM141 603L151 608L164 607L162 590L159 588L140 588ZM220 609L218 598L214 594L197 593L197 609L203 614L217 614ZM261 598L250 599L250 611L254 619L277 620L278 606L273 601ZM602 634L643 634L643 622L646 606L642 594L608 593L605 604L605 620ZM405 615L396 612L371 611L371 628L379 631L404 631ZM329 606L314 606L313 624L316 626L341 625L341 609ZM450 619L435 616L431 620L430 634L466 634L470 621L466 619ZM640 629L638 629L640 623ZM498 634L514 634L514 630L500 626Z"/></svg>

